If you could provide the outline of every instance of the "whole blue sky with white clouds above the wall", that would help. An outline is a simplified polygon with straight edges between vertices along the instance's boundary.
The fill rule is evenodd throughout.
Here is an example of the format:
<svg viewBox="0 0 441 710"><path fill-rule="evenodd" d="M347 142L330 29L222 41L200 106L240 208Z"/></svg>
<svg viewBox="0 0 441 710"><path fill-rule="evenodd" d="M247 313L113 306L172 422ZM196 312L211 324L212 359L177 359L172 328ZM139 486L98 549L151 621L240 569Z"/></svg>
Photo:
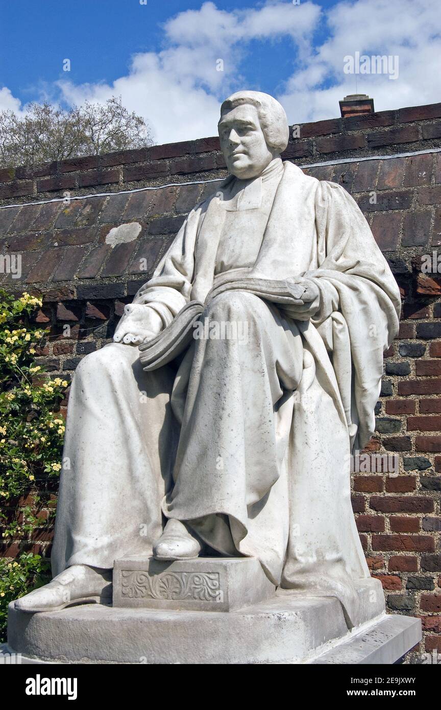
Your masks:
<svg viewBox="0 0 441 710"><path fill-rule="evenodd" d="M343 67L357 52L398 57L395 80L357 76L377 110L441 100L437 0L296 3L1 0L0 110L121 95L160 143L213 135L239 88L276 96L291 123L332 118L355 92Z"/></svg>

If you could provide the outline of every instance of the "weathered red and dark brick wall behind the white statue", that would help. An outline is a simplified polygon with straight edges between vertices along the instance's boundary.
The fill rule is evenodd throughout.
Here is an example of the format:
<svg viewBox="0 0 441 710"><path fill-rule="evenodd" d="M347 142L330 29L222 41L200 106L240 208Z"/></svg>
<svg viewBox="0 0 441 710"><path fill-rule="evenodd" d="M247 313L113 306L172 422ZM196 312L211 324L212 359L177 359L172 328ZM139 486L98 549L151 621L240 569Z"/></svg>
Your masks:
<svg viewBox="0 0 441 710"><path fill-rule="evenodd" d="M368 447L398 454L399 471L355 473L353 501L389 611L423 618L428 652L441 652L441 276L423 273L421 257L441 244L440 119L441 104L432 104L303 124L283 156L355 197L401 288L400 333L385 354ZM224 176L217 138L0 170L0 204L16 205L0 209L0 253L20 253L23 268L20 279L0 273L0 285L43 293L37 320L50 335L38 354L51 376L69 380L85 354L109 342L186 213L216 192L207 181ZM143 187L152 189L130 192ZM106 242L134 222L136 239ZM30 501L32 491L21 505ZM50 530L36 531L5 540L0 554L48 555L50 540Z"/></svg>

